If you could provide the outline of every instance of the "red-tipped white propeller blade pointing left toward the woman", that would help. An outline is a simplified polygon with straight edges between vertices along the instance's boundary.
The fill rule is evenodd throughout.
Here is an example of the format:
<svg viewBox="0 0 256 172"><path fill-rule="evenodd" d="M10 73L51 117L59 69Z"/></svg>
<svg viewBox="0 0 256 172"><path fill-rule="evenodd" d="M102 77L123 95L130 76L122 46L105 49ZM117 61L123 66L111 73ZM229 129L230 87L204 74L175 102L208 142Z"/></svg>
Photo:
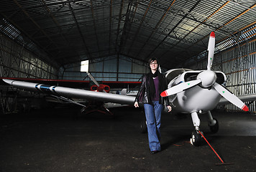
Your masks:
<svg viewBox="0 0 256 172"><path fill-rule="evenodd" d="M182 92L183 90L187 90L190 87L198 85L198 83L200 83L200 82L201 82L201 80L191 80L188 82L180 83L180 84L170 87L168 90L165 90L164 92L162 92L161 96L167 97L169 95L175 95L178 92Z"/></svg>

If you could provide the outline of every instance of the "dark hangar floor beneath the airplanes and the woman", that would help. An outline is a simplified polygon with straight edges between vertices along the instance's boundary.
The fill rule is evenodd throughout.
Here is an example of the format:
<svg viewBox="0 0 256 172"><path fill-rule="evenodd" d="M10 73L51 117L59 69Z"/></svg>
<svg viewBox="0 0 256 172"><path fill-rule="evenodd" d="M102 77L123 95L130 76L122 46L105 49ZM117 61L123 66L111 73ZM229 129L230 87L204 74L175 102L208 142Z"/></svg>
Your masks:
<svg viewBox="0 0 256 172"><path fill-rule="evenodd" d="M191 117L163 114L162 148L150 154L140 133L143 113L113 110L115 118L91 114L73 118L74 108L0 115L0 171L256 171L256 115L218 113L219 132L211 134L206 117L201 130L209 145L189 143Z"/></svg>

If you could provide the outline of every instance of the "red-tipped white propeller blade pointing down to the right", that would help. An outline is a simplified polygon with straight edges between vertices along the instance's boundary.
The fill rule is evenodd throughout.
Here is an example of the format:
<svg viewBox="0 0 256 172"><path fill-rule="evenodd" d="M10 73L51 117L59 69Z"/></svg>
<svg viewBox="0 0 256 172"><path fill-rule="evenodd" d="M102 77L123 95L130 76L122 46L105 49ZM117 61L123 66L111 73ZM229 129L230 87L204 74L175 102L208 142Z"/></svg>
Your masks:
<svg viewBox="0 0 256 172"><path fill-rule="evenodd" d="M218 83L215 83L213 86L214 86L215 90L217 92L219 92L219 94L221 96L223 96L225 99L229 100L229 102L231 102L233 105L236 105L238 108L240 108L240 109L242 109L244 111L248 111L249 110L247 105L245 105L244 102L239 100L239 98L237 96L235 96L234 94L229 92L229 90L227 90L226 88L222 87Z"/></svg>

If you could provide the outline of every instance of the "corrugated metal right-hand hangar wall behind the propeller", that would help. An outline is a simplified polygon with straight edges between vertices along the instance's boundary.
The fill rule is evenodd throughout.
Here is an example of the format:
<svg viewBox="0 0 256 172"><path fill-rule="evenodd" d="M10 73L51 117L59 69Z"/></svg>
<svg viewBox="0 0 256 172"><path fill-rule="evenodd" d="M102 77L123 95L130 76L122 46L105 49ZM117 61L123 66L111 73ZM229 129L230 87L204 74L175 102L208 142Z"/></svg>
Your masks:
<svg viewBox="0 0 256 172"><path fill-rule="evenodd" d="M242 37L243 34L236 35ZM224 40L216 44L214 62L211 70L222 71L227 76L226 87L234 95L256 93L256 37L251 34L250 39ZM232 43L232 44L231 44ZM231 47L232 46L232 47ZM195 57L197 62L188 65L193 70L205 70L207 66L206 52ZM246 102L252 112L256 112L256 103ZM240 111L234 105L225 105L227 111Z"/></svg>

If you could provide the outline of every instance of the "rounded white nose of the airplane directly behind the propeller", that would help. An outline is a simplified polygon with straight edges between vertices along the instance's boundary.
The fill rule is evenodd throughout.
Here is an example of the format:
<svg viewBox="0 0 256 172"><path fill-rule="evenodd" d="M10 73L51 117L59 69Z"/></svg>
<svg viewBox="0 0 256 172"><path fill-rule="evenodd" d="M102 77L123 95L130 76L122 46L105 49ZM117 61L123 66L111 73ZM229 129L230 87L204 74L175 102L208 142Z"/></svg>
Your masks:
<svg viewBox="0 0 256 172"><path fill-rule="evenodd" d="M175 69L166 72L168 79L168 88L178 86L180 83L198 80L198 76L207 70L188 70ZM211 73L204 74L211 77ZM223 72L214 72L216 82L224 84L226 76ZM172 102L173 108L179 113L206 113L213 110L219 103L221 95L214 89L214 87L204 87L202 83L190 87L188 90L183 90L175 95L170 95L169 100Z"/></svg>

